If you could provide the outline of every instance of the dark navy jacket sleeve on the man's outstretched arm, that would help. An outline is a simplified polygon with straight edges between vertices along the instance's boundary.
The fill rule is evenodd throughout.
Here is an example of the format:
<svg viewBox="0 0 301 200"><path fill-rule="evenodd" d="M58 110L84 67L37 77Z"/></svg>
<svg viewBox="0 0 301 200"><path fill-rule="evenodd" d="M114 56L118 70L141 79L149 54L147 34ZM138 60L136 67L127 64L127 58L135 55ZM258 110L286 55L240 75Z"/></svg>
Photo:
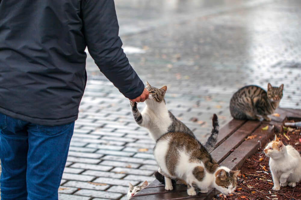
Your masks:
<svg viewBox="0 0 301 200"><path fill-rule="evenodd" d="M125 97L140 96L144 84L121 48L114 1L83 0L81 9L83 33L95 64Z"/></svg>

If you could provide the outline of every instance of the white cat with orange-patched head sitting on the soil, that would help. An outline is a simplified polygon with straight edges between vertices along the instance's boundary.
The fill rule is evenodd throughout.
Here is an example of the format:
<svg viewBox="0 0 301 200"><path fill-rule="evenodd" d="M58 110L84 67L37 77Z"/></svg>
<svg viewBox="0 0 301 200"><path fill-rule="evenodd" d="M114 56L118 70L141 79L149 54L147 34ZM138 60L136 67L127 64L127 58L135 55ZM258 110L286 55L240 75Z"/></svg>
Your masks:
<svg viewBox="0 0 301 200"><path fill-rule="evenodd" d="M280 190L280 186L295 187L296 182L301 180L301 156L299 152L290 145L284 145L275 135L275 139L268 143L264 149L266 156L270 157L274 187Z"/></svg>

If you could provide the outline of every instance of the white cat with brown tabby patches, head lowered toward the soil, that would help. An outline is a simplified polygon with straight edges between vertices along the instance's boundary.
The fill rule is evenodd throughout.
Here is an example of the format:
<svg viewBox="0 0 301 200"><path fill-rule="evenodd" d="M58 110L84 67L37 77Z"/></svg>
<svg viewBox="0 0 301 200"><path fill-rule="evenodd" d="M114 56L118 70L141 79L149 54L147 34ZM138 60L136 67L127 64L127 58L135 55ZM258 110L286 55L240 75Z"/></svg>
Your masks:
<svg viewBox="0 0 301 200"><path fill-rule="evenodd" d="M218 126L217 116L213 116L213 126ZM216 129L216 127L213 127ZM165 190L172 190L172 179L184 180L187 193L196 195L216 188L224 194L231 194L236 188L236 178L240 170L232 171L213 160L203 145L191 134L169 132L161 136L154 147L154 157L159 173L165 176Z"/></svg>

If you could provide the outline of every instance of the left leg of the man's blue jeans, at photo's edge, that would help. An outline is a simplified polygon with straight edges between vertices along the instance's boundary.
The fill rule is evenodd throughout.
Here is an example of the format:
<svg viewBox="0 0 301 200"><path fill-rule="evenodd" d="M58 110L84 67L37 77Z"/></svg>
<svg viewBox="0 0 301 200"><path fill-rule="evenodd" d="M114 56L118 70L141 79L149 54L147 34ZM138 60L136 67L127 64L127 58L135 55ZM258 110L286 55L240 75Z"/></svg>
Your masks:
<svg viewBox="0 0 301 200"><path fill-rule="evenodd" d="M24 122L0 114L1 199L25 200L28 136Z"/></svg>

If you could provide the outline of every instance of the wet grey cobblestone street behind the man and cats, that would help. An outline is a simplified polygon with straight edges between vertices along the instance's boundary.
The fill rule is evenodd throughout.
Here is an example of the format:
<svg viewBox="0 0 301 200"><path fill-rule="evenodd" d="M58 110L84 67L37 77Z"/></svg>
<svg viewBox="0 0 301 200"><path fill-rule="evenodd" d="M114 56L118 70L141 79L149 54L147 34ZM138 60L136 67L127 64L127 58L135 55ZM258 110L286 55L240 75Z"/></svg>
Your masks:
<svg viewBox="0 0 301 200"><path fill-rule="evenodd" d="M168 109L200 142L213 113L220 127L231 121L230 98L245 85L267 90L268 82L283 83L280 107L301 109L301 1L116 0L115 6L131 65L144 83L167 85ZM59 199L124 200L129 182L154 180L155 142L90 55L87 73Z"/></svg>

